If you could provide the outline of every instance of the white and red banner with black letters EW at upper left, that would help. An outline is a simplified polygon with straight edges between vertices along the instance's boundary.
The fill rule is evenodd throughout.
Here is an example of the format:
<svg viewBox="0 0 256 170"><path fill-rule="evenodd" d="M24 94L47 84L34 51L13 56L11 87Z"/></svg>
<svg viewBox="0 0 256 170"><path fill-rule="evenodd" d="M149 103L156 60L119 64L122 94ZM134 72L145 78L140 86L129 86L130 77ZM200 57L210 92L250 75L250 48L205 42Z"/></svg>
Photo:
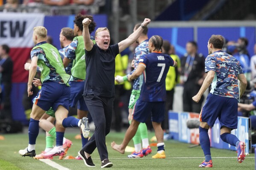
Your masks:
<svg viewBox="0 0 256 170"><path fill-rule="evenodd" d="M44 14L0 13L0 45L7 44L11 49L13 83L27 82L24 64L34 46L32 36L36 26L44 26Z"/></svg>

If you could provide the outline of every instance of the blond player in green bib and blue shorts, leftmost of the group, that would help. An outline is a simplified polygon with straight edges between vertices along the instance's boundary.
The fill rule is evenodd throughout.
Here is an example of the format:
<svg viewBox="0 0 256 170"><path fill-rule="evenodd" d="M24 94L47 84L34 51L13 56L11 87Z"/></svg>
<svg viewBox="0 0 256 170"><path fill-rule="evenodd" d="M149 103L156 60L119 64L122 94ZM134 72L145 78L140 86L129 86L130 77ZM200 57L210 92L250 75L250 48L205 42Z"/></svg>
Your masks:
<svg viewBox="0 0 256 170"><path fill-rule="evenodd" d="M34 157L35 141L39 133L39 119L46 110L53 108L56 116L56 147L44 156L63 156L63 138L65 127L62 126L62 121L68 115L68 99L70 97L70 88L68 81L70 75L66 74L62 59L58 50L46 43L47 29L43 26L34 28L33 41L35 47L31 50L31 66L29 69L29 80L27 92L28 96L32 95L32 81L36 74L37 67L41 71L42 88L35 97L35 102L32 107L29 122L29 145L24 150L19 150L21 156ZM77 121L77 127L83 127L83 121Z"/></svg>

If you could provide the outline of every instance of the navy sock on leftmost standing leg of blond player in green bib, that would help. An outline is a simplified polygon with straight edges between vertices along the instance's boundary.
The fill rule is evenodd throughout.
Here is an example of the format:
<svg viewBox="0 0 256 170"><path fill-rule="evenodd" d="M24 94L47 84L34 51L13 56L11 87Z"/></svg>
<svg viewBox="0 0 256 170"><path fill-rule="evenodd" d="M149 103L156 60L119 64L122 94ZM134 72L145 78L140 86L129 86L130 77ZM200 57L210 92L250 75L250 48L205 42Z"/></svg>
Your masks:
<svg viewBox="0 0 256 170"><path fill-rule="evenodd" d="M29 121L29 144L35 144L39 133L39 121L30 118Z"/></svg>

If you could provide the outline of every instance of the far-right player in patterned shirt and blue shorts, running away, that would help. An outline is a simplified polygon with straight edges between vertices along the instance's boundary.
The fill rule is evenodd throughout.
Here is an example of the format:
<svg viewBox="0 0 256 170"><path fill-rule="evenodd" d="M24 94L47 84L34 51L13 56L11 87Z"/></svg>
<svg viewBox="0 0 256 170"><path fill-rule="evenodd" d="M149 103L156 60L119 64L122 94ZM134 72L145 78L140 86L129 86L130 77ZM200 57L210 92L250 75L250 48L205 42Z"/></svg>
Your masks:
<svg viewBox="0 0 256 170"><path fill-rule="evenodd" d="M205 155L205 160L199 167L212 167L208 130L213 127L217 118L221 124L222 141L237 147L238 163L243 162L245 158L245 143L232 135L231 130L237 129L238 101L244 94L247 81L240 63L232 55L221 51L223 43L224 37L221 35L210 37L207 45L209 55L205 61L207 76L197 95L192 98L193 101L199 102L212 84L212 90L199 115L199 140Z"/></svg>

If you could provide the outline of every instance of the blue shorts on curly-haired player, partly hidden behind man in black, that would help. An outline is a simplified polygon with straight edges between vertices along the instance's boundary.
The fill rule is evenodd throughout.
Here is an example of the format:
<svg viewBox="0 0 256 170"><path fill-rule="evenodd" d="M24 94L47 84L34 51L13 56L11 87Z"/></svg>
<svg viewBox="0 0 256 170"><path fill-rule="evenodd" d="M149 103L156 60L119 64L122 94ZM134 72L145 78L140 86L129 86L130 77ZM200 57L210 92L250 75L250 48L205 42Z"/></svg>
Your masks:
<svg viewBox="0 0 256 170"><path fill-rule="evenodd" d="M70 98L69 98L69 107L76 107L79 110L88 111L88 108L85 104L85 100L82 96L85 82L84 81L70 81Z"/></svg>

